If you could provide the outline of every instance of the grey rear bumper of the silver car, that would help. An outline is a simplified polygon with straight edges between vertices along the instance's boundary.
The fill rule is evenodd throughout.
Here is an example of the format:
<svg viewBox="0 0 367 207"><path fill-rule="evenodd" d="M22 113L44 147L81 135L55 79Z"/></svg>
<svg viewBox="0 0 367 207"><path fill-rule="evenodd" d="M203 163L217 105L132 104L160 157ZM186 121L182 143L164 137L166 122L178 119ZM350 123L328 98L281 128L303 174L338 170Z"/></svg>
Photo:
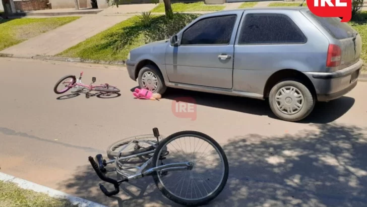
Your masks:
<svg viewBox="0 0 367 207"><path fill-rule="evenodd" d="M329 101L339 98L352 90L358 82L363 61L330 73L306 72L313 82L318 101Z"/></svg>

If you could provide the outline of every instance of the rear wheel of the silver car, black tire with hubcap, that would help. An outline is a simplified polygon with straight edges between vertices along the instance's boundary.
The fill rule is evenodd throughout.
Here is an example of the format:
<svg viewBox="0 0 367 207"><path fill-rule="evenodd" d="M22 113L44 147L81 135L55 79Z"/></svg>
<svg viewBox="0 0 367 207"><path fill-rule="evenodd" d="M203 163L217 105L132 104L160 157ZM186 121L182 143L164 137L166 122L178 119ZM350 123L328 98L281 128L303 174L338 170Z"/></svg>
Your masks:
<svg viewBox="0 0 367 207"><path fill-rule="evenodd" d="M269 94L271 111L279 119L289 122L309 116L315 102L311 91L297 80L282 80L273 86Z"/></svg>

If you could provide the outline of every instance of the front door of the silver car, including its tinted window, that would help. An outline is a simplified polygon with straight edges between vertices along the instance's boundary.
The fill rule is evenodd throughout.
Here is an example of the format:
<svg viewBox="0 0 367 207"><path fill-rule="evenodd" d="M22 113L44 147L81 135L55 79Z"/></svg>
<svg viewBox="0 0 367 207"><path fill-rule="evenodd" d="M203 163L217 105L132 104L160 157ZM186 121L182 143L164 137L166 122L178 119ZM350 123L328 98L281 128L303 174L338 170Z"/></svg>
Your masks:
<svg viewBox="0 0 367 207"><path fill-rule="evenodd" d="M232 88L235 31L243 11L201 18L166 48L170 82Z"/></svg>

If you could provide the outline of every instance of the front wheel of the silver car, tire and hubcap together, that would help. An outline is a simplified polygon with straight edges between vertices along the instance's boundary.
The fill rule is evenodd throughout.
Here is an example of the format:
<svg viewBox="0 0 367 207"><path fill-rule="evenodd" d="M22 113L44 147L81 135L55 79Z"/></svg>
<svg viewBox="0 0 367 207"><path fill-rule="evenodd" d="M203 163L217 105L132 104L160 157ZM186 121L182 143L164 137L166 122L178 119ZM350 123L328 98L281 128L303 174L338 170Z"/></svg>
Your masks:
<svg viewBox="0 0 367 207"><path fill-rule="evenodd" d="M153 93L163 94L167 89L162 74L153 65L146 65L139 71L138 82L140 88L145 88Z"/></svg>

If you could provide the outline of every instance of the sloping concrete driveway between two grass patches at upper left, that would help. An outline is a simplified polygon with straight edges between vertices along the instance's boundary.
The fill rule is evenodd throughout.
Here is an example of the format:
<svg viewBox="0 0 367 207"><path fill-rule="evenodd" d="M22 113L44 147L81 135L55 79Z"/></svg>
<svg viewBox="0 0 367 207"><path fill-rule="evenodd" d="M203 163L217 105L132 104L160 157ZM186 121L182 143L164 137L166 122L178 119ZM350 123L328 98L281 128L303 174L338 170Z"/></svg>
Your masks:
<svg viewBox="0 0 367 207"><path fill-rule="evenodd" d="M18 57L54 56L107 28L130 18L129 16L88 16L43 33L0 53Z"/></svg>

